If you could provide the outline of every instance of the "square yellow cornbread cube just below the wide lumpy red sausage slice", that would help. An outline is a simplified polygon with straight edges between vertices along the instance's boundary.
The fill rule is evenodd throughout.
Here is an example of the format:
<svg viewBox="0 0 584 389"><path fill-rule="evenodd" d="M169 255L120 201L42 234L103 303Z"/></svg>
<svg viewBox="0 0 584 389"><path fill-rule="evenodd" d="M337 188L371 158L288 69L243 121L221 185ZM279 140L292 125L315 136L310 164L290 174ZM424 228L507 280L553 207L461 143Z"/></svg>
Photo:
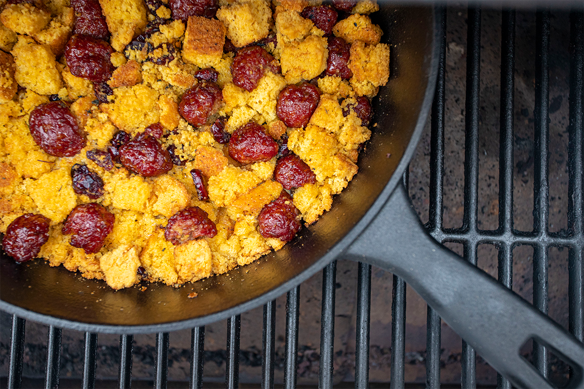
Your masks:
<svg viewBox="0 0 584 389"><path fill-rule="evenodd" d="M120 169L112 177L104 177L104 204L106 199L116 208L144 212L152 194L152 184L141 176L129 177L127 171Z"/></svg>

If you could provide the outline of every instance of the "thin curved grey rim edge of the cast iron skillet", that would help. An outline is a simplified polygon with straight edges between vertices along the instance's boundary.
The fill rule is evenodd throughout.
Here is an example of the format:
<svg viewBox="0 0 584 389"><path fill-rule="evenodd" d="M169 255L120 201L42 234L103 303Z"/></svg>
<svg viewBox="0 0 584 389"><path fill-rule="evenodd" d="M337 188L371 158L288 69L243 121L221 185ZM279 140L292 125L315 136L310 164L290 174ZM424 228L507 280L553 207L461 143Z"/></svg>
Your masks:
<svg viewBox="0 0 584 389"><path fill-rule="evenodd" d="M396 167L390 180L388 180L387 184L385 184L385 187L380 192L377 199L373 202L367 212L359 220L359 222L357 222L356 225L354 225L353 228L342 239L329 248L325 255L315 261L312 265L310 265L310 267L304 269L304 271L302 271L300 274L288 279L286 282L270 290L269 292L250 299L237 306L230 307L216 313L211 313L203 317L190 318L187 320L174 321L172 323L164 324L111 325L80 323L64 318L49 316L47 314L37 313L19 306L15 306L11 303L4 302L2 300L0 300L0 310L6 311L9 314L14 314L26 320L32 320L46 325L53 325L55 327L66 328L67 330L82 332L100 332L102 334L152 334L156 332L178 331L184 330L185 328L199 327L201 325L214 323L216 321L223 320L225 318L229 318L259 307L260 305L274 300L288 292L288 290L300 285L300 283L316 274L316 272L326 267L326 265L342 257L343 251L346 251L346 249L349 248L353 241L358 239L360 234L363 233L363 231L367 228L367 226L369 226L373 219L376 218L379 211L388 202L392 192L394 192L395 188L401 181L404 171L408 167L413 153L415 152L416 146L418 145L418 142L422 136L422 132L426 124L426 119L430 113L430 108L432 107L434 99L440 50L439 37L441 36L443 29L442 14L440 12L436 12L436 8L434 6L431 7L430 13L433 23L433 37L431 45L432 52L430 54L429 65L430 73L427 78L428 82L426 85L422 105L420 107L418 120L416 121L415 128L412 131L412 135L409 139L404 155L399 161L398 166Z"/></svg>

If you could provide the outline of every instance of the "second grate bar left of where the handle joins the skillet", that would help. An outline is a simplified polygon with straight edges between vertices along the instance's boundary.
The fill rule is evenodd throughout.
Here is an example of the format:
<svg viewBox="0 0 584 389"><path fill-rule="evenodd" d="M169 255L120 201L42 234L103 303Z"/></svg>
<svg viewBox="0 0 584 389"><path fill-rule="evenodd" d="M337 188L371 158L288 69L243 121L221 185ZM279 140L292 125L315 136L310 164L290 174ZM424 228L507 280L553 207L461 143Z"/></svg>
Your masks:
<svg viewBox="0 0 584 389"><path fill-rule="evenodd" d="M284 359L284 389L296 389L298 354L298 316L300 316L300 285L286 296L286 356Z"/></svg>

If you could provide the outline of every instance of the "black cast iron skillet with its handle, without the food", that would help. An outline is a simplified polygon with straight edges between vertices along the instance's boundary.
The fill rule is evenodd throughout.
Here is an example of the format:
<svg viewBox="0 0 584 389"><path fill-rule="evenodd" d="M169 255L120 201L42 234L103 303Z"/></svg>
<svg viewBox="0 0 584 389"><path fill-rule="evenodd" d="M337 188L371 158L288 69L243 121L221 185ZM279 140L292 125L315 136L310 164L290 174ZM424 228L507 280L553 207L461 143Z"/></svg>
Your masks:
<svg viewBox="0 0 584 389"><path fill-rule="evenodd" d="M259 306L329 262L350 258L405 279L444 321L517 387L551 388L519 355L530 338L572 366L568 388L584 388L584 348L519 296L427 236L399 185L432 104L436 37L442 23L430 8L382 5L375 22L391 43L391 79L374 100L373 136L360 172L333 209L283 250L175 289L119 290L42 261L0 258L0 308L79 331L145 333L204 325ZM188 299L192 291L196 299Z"/></svg>

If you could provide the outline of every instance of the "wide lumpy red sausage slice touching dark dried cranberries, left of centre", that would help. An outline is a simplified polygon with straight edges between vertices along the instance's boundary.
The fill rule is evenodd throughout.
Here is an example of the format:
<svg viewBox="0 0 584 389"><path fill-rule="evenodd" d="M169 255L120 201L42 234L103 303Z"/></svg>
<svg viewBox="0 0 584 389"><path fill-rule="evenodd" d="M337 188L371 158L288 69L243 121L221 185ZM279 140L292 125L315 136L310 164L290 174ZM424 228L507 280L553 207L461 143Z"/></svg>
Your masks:
<svg viewBox="0 0 584 389"><path fill-rule="evenodd" d="M172 169L171 156L154 136L140 132L120 147L120 162L144 177L154 177Z"/></svg>

